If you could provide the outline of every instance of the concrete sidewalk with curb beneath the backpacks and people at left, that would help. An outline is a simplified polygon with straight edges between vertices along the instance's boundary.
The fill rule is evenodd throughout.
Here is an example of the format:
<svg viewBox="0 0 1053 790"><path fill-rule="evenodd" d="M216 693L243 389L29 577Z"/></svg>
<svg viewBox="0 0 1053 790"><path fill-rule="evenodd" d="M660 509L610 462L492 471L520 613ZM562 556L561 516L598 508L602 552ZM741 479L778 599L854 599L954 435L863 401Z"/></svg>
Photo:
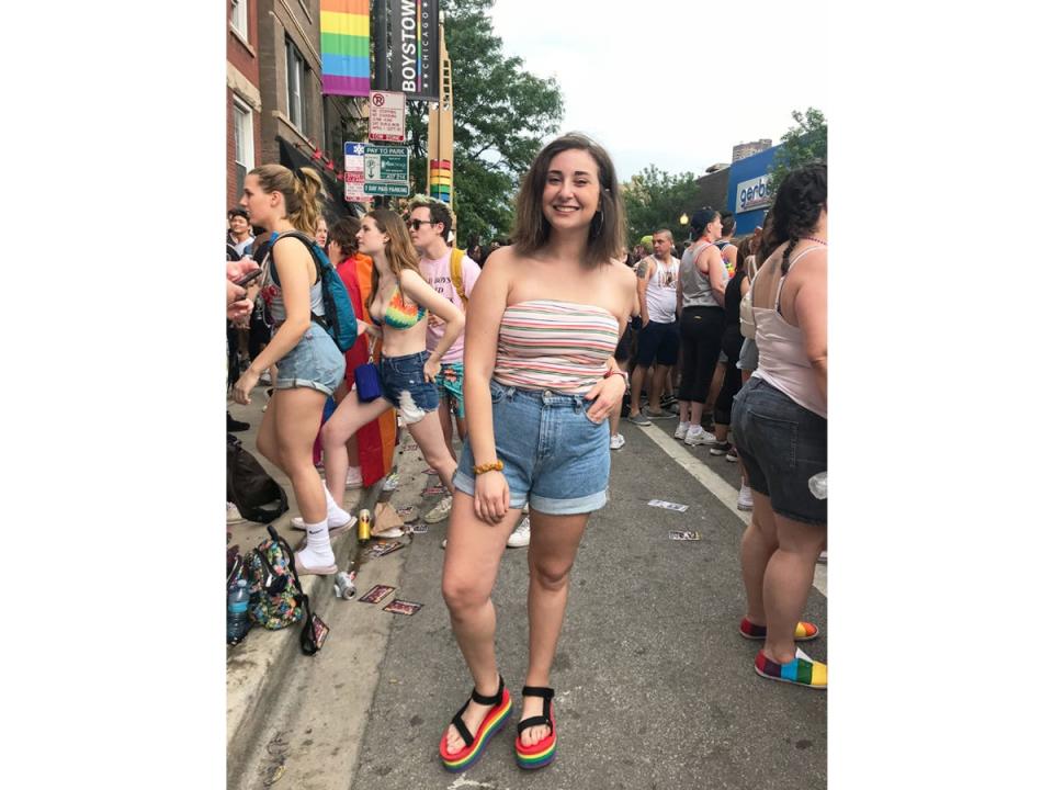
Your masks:
<svg viewBox="0 0 1053 790"><path fill-rule="evenodd" d="M235 419L249 422L250 428L235 436L241 440L246 450L260 462L278 483L281 485L285 495L288 497L290 509L274 522L278 532L288 541L295 550L296 544L304 537L304 533L294 530L291 527L291 519L298 516L296 499L293 496L292 485L288 478L276 467L274 467L256 449L256 436L263 417L263 405L267 403L265 387L259 386L252 394L252 403L247 406L230 403L227 405L231 416ZM395 467L398 467L400 455L397 453ZM423 469L422 463L420 464ZM389 494L382 492L383 479L375 483L370 488L348 490L344 505L352 514L358 514L361 508L369 508L371 511L377 500L382 497L388 498ZM239 552L244 555L247 551L258 545L261 541L268 539L265 524L252 521L241 521L229 523L226 531L230 533L227 545L239 546ZM337 565L342 571L355 565L358 539L355 530L350 530L333 540L333 553L337 557ZM327 608L324 605L333 598L331 576L304 576L302 578L304 591L310 598L313 610L318 610L326 622L329 619L324 613ZM360 587L361 589L361 587ZM280 631L267 631L265 629L253 627L239 645L227 648L227 769L228 776L237 775L242 767L239 765L239 757L247 751L247 745L254 742L262 724L268 720L270 713L270 703L274 697L273 690L288 681L291 670L299 662L310 662L316 656L305 656L299 648L299 632L302 623L295 623L292 627ZM317 654L321 655L333 641L333 633L330 633L326 647ZM385 639L386 642L386 639Z"/></svg>

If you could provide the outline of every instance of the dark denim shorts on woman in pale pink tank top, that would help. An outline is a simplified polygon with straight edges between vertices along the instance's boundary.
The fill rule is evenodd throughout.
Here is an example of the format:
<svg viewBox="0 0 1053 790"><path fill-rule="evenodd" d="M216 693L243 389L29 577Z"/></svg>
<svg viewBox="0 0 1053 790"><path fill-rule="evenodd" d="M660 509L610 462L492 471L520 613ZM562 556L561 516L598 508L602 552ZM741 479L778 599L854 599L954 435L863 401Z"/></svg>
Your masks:
<svg viewBox="0 0 1053 790"><path fill-rule="evenodd" d="M735 396L732 431L749 487L780 516L825 527L827 500L812 495L808 479L826 471L826 418L754 375Z"/></svg>

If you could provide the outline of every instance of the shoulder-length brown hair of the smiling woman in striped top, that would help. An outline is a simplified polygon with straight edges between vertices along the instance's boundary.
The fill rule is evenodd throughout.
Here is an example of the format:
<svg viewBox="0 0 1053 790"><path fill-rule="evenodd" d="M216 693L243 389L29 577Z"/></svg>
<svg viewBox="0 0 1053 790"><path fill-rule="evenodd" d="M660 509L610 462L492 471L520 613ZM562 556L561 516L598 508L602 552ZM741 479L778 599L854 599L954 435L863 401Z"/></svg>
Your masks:
<svg viewBox="0 0 1053 790"><path fill-rule="evenodd" d="M512 244L521 255L533 255L548 241L552 225L545 218L542 195L552 160L565 150L588 151L596 162L600 179L600 202L589 224L589 240L585 250L585 266L592 268L619 258L625 244L625 211L614 174L614 163L602 146L582 134L570 133L557 137L542 148L534 163L523 177L516 199L516 229Z"/></svg>

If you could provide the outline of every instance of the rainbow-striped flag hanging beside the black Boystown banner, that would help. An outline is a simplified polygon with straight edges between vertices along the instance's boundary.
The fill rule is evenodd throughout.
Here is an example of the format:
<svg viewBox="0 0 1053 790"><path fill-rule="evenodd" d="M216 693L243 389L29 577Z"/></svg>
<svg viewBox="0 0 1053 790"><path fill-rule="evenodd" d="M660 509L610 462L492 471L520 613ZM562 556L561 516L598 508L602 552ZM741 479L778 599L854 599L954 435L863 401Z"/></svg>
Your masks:
<svg viewBox="0 0 1053 790"><path fill-rule="evenodd" d="M321 0L321 92L370 94L370 0Z"/></svg>

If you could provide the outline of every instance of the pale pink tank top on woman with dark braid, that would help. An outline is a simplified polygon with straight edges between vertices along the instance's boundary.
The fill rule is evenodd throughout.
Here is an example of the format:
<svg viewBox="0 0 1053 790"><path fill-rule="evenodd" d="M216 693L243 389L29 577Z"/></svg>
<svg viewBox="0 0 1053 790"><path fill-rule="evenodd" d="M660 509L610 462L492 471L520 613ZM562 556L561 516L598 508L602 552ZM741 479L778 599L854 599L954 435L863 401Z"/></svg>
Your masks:
<svg viewBox="0 0 1053 790"><path fill-rule="evenodd" d="M807 247L793 257L786 274L794 264L806 253L820 249L818 245ZM757 324L757 350L759 363L756 375L771 384L795 404L826 418L826 398L819 392L815 381L812 362L804 352L804 334L800 327L788 323L779 314L779 302L782 298L782 286L786 283L783 274L775 292L774 307L757 307L754 305L754 321Z"/></svg>

